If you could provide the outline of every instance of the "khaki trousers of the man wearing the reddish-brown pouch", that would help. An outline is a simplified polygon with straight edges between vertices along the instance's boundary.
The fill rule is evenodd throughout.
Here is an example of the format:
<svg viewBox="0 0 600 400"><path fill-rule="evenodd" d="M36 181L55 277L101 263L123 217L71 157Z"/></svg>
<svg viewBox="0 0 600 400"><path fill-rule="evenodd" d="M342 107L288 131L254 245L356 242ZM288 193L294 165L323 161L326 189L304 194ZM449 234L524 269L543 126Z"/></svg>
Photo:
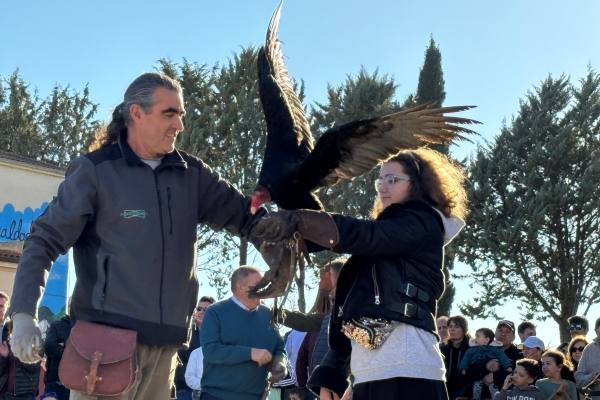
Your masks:
<svg viewBox="0 0 600 400"><path fill-rule="evenodd" d="M177 348L137 344L137 371L131 389L121 396L88 396L71 390L70 400L169 400L177 366Z"/></svg>

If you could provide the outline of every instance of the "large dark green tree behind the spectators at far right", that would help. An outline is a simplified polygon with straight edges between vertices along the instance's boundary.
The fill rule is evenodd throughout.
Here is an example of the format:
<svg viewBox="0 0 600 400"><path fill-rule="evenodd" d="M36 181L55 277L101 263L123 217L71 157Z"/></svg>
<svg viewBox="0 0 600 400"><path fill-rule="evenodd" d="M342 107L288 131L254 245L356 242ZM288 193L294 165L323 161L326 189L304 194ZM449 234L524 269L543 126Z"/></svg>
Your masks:
<svg viewBox="0 0 600 400"><path fill-rule="evenodd" d="M477 151L459 257L479 287L462 304L495 315L508 299L528 317L567 318L600 302L600 76L548 77Z"/></svg>

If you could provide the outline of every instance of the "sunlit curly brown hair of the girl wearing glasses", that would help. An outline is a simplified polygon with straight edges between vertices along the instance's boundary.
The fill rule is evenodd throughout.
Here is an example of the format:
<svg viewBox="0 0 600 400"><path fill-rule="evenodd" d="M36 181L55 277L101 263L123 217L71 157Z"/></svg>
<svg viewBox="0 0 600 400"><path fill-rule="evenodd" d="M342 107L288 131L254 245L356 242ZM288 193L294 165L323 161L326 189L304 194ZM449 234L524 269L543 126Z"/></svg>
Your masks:
<svg viewBox="0 0 600 400"><path fill-rule="evenodd" d="M467 214L467 192L462 166L442 153L424 147L402 150L385 162L401 164L410 177L409 200L422 200L446 217L464 219ZM379 197L376 197L371 217L377 218L383 209Z"/></svg>

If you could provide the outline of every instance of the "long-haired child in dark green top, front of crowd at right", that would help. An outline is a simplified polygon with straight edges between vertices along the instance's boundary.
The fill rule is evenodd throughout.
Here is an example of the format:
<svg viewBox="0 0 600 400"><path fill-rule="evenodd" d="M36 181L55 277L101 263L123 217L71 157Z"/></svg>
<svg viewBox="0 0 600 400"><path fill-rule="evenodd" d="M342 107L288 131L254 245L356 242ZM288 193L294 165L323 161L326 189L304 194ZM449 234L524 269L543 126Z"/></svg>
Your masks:
<svg viewBox="0 0 600 400"><path fill-rule="evenodd" d="M545 378L538 380L535 386L544 394L545 399L578 399L575 383L562 378L563 369L569 369L569 361L563 353L548 350L542 354L542 372Z"/></svg>

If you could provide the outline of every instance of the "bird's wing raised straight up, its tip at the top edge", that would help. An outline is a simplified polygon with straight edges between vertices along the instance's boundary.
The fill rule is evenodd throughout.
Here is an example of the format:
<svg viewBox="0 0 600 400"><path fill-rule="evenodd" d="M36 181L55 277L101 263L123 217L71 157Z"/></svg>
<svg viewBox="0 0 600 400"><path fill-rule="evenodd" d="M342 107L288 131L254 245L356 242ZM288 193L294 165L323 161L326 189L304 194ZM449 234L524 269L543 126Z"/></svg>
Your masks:
<svg viewBox="0 0 600 400"><path fill-rule="evenodd" d="M265 46L258 54L258 88L265 120L267 144L259 184L272 183L271 174L297 168L314 146L304 107L294 91L277 38L281 3L267 30Z"/></svg>

